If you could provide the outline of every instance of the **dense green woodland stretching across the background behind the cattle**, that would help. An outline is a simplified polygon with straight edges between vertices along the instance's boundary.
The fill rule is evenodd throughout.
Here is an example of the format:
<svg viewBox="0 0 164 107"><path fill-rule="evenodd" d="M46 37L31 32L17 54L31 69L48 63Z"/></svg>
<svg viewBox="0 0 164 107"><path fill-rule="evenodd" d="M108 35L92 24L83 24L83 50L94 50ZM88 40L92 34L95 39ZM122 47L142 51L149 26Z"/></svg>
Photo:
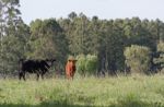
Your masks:
<svg viewBox="0 0 164 107"><path fill-rule="evenodd" d="M69 56L96 56L99 72L160 72L164 62L164 22L156 20L87 17L21 19L19 0L0 0L0 72L19 70L20 59L56 58L52 72L65 72ZM82 58L81 58L82 59Z"/></svg>

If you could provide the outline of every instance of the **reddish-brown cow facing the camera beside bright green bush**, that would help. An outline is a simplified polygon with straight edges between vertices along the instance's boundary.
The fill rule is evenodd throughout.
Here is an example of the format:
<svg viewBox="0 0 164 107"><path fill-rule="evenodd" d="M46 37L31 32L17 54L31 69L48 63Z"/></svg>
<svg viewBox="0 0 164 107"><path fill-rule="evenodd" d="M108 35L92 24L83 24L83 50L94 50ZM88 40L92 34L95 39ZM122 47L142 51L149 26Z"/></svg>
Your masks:
<svg viewBox="0 0 164 107"><path fill-rule="evenodd" d="M74 73L75 73L75 62L77 60L74 59L69 59L67 64L66 64L66 78L67 79L73 79Z"/></svg>

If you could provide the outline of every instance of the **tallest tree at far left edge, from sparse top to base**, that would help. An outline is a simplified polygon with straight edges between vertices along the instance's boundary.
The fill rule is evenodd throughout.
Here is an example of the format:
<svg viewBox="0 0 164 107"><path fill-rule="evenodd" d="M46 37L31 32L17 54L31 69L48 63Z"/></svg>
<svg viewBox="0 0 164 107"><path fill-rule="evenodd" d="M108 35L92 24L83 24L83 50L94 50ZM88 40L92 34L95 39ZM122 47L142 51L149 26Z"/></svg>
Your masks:
<svg viewBox="0 0 164 107"><path fill-rule="evenodd" d="M30 36L19 8L20 0L0 0L0 71L5 73L17 70Z"/></svg>

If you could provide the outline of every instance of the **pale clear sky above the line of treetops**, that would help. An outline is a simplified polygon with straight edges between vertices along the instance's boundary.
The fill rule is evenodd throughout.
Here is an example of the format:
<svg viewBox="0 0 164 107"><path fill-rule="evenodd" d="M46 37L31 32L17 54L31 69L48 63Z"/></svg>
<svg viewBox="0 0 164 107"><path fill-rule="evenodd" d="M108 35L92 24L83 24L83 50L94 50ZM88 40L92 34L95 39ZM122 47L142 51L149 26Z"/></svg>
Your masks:
<svg viewBox="0 0 164 107"><path fill-rule="evenodd" d="M67 17L72 11L99 19L140 19L164 21L164 0L20 0L25 23L35 19Z"/></svg>

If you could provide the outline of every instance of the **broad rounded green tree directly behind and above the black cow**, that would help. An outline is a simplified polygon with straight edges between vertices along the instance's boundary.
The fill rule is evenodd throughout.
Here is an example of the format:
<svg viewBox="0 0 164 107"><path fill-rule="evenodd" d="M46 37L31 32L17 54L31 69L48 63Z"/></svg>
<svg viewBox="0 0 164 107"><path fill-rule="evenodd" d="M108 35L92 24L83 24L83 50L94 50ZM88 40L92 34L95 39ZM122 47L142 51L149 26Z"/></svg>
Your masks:
<svg viewBox="0 0 164 107"><path fill-rule="evenodd" d="M57 59L57 68L63 69L68 52L68 40L55 19L36 20L31 23L28 59Z"/></svg>

